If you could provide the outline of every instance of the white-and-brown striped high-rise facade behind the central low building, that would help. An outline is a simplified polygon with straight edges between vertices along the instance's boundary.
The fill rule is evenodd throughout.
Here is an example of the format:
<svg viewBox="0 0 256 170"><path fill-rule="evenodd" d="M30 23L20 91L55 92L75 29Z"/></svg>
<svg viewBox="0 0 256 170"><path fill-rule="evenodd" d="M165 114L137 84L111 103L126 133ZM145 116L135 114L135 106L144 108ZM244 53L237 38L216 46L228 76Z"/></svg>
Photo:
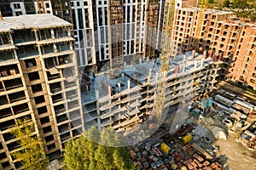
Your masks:
<svg viewBox="0 0 256 170"><path fill-rule="evenodd" d="M165 1L93 1L97 65L110 60L122 65L124 59L155 58L160 49ZM146 50L147 49L147 50Z"/></svg>

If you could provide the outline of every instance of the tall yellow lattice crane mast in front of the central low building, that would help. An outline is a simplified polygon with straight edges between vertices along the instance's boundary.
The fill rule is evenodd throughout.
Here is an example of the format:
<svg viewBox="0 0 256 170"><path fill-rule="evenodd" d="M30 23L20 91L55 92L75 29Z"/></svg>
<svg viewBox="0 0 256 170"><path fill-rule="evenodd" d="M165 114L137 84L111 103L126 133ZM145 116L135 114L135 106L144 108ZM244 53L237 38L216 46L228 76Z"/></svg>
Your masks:
<svg viewBox="0 0 256 170"><path fill-rule="evenodd" d="M154 111L157 120L160 120L162 111L164 110L166 101L166 77L169 69L169 59L171 56L171 42L172 42L172 30L173 20L175 14L175 3L176 0L170 0L166 2L166 12L164 20L164 31L162 39L162 52L160 55L160 73L158 77L158 85L156 91Z"/></svg>

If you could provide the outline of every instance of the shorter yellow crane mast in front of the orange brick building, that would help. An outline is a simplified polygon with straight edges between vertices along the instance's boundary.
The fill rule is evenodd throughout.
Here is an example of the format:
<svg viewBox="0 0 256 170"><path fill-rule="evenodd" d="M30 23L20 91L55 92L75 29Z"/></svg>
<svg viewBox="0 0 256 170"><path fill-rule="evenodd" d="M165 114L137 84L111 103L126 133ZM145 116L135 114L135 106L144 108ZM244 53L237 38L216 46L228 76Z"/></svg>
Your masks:
<svg viewBox="0 0 256 170"><path fill-rule="evenodd" d="M204 21L204 14L205 14L206 8L207 8L207 0L201 0L200 12L196 22L196 30L195 30L195 51L198 51L198 48L199 48L201 26Z"/></svg>

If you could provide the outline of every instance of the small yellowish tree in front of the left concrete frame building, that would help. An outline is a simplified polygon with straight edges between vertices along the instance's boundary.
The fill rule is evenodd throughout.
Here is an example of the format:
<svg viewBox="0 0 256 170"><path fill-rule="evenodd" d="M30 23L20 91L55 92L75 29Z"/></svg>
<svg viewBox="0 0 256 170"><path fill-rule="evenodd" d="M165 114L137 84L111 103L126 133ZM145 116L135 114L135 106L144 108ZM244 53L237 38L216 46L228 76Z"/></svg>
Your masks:
<svg viewBox="0 0 256 170"><path fill-rule="evenodd" d="M34 132L34 123L27 117L17 120L15 127L10 133L13 133L16 139L19 139L18 144L20 144L23 150L14 152L12 156L20 160L23 169L43 170L46 168L49 160L44 154L43 140L33 135Z"/></svg>

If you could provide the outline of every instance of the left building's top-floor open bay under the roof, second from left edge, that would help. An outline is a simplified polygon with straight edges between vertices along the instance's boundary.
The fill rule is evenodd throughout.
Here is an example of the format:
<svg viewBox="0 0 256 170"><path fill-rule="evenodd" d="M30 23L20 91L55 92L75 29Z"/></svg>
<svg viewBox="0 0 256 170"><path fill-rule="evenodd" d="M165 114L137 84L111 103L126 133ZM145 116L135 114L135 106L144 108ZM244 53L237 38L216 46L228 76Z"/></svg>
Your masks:
<svg viewBox="0 0 256 170"><path fill-rule="evenodd" d="M36 37L32 29L15 30L12 36L15 45L32 44L36 42Z"/></svg>

